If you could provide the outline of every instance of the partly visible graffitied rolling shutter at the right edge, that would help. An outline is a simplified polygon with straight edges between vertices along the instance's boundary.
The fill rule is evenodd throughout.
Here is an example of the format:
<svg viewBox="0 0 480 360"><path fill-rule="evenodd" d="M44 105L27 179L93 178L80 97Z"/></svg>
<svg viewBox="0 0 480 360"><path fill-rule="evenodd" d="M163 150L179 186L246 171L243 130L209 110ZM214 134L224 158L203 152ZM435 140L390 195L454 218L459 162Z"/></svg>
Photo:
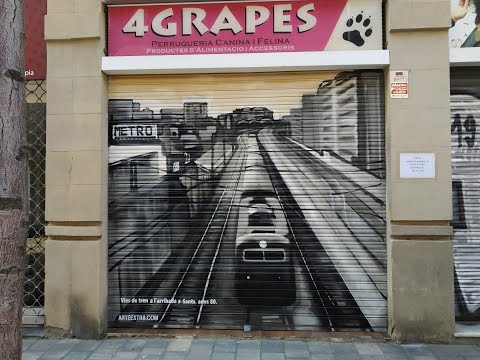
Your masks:
<svg viewBox="0 0 480 360"><path fill-rule="evenodd" d="M457 320L480 320L479 69L452 69L451 136Z"/></svg>

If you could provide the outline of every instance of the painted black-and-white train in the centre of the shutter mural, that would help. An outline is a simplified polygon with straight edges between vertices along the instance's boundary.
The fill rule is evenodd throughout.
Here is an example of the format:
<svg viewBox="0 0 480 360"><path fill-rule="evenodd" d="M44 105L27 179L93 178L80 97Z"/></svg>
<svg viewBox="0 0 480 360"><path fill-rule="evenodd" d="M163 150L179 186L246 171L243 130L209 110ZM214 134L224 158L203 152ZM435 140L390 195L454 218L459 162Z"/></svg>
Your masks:
<svg viewBox="0 0 480 360"><path fill-rule="evenodd" d="M258 148L246 138L235 244L235 288L246 306L288 306L296 298L287 220Z"/></svg>

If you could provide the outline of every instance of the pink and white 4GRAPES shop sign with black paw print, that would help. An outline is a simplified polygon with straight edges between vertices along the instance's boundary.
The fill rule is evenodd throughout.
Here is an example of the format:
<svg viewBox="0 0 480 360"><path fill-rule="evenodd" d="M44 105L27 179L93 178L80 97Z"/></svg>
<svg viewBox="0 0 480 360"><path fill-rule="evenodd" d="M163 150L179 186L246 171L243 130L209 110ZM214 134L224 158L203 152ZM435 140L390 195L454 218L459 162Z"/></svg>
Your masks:
<svg viewBox="0 0 480 360"><path fill-rule="evenodd" d="M109 55L381 49L381 1L111 6Z"/></svg>

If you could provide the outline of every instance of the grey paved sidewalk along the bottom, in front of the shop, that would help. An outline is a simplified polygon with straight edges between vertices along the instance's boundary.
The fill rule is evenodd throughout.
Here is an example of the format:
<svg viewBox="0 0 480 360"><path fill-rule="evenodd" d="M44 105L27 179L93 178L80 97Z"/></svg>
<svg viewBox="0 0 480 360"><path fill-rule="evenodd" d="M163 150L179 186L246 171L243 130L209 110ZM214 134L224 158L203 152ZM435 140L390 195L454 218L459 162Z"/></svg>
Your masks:
<svg viewBox="0 0 480 360"><path fill-rule="evenodd" d="M25 338L23 346L23 360L480 360L479 345L400 345L338 339Z"/></svg>

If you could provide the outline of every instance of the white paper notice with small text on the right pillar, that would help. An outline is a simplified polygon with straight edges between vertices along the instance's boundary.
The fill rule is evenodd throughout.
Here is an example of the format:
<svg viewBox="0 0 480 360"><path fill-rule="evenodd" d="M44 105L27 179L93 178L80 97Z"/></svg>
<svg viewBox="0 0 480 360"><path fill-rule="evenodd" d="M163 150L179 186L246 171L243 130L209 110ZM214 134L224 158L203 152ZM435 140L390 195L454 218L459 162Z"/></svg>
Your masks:
<svg viewBox="0 0 480 360"><path fill-rule="evenodd" d="M400 178L435 178L435 154L400 154Z"/></svg>

